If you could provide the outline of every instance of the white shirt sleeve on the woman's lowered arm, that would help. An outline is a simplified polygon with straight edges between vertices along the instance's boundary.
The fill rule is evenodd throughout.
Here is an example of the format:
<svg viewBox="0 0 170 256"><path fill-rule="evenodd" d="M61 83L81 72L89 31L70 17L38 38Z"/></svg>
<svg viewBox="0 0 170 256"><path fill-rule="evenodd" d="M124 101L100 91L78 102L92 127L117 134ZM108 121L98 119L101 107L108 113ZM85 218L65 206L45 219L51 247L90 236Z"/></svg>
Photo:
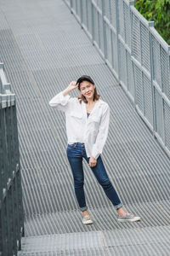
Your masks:
<svg viewBox="0 0 170 256"><path fill-rule="evenodd" d="M97 160L99 157L99 154L102 153L103 148L105 146L105 141L108 136L109 131L109 123L110 123L110 107L107 104L104 113L102 114L101 123L99 126L99 133L96 137L96 142L93 145L92 148L92 156Z"/></svg>

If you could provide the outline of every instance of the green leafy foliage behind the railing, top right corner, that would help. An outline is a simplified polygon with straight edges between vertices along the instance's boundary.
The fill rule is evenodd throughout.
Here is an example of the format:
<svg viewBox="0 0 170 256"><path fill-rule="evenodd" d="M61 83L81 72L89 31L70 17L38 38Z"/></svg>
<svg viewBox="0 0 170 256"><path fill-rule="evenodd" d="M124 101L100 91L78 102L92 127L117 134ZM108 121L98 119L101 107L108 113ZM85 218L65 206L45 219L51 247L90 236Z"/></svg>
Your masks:
<svg viewBox="0 0 170 256"><path fill-rule="evenodd" d="M154 20L156 31L170 44L170 0L136 0L134 3L146 20Z"/></svg>

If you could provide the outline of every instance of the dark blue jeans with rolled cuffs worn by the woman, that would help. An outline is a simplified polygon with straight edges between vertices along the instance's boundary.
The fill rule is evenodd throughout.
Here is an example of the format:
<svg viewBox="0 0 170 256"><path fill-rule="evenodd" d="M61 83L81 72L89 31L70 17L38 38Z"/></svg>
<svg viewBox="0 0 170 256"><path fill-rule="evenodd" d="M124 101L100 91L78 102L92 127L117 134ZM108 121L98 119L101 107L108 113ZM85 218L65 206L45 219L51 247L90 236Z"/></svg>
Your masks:
<svg viewBox="0 0 170 256"><path fill-rule="evenodd" d="M66 154L71 166L71 171L74 177L74 189L77 196L78 205L81 211L88 209L86 205L85 195L84 195L84 173L82 168L82 157L89 163L89 157L86 154L86 149L84 143L73 143L68 144L66 148ZM105 191L105 195L111 200L113 206L116 209L122 207L122 202L120 201L116 190L113 188L107 173L105 172L105 166L99 155L97 159L97 164L94 167L90 167L94 172L94 176L97 178L99 184Z"/></svg>

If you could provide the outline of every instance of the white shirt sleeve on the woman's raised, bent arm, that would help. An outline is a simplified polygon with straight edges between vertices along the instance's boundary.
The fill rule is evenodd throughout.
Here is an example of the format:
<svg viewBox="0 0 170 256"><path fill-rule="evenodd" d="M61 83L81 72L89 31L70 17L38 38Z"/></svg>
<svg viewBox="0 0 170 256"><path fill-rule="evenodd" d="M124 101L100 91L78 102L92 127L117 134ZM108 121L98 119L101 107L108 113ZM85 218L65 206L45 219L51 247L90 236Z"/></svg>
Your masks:
<svg viewBox="0 0 170 256"><path fill-rule="evenodd" d="M50 100L50 102L48 102L48 104L50 107L66 112L69 108L69 102L71 102L71 96L68 94L64 96L63 91L60 91Z"/></svg>

